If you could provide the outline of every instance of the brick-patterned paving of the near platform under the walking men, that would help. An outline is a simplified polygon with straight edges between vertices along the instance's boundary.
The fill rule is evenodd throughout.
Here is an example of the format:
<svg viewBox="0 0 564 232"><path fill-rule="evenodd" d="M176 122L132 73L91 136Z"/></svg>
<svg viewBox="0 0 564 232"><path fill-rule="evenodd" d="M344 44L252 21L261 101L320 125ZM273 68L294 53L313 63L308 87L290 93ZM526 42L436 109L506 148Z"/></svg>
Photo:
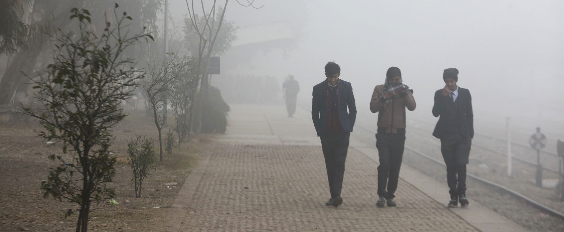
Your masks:
<svg viewBox="0 0 564 232"><path fill-rule="evenodd" d="M183 231L478 231L403 180L398 207L377 208L377 163L352 148L338 208L320 146L222 143L209 159Z"/></svg>

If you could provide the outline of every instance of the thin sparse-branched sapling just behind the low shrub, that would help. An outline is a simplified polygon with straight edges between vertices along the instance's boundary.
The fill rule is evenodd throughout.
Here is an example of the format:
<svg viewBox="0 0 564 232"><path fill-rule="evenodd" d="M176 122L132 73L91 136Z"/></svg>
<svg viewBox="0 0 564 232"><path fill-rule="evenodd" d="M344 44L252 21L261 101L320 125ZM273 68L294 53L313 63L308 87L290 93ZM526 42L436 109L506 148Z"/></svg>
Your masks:
<svg viewBox="0 0 564 232"><path fill-rule="evenodd" d="M166 127L166 114L162 110L164 101L169 98L171 84L177 80L188 65L187 57L178 57L169 53L170 61L162 64L149 64L146 79L142 81L142 88L148 101L149 110L153 112L153 123L158 131L158 146L162 161L162 128Z"/></svg>

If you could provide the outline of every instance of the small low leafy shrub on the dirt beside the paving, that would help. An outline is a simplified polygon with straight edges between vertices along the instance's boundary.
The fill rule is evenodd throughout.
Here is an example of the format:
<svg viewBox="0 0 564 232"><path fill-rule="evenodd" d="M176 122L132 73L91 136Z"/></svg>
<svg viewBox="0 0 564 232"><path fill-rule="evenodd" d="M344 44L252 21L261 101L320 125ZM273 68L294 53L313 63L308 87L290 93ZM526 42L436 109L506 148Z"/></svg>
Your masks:
<svg viewBox="0 0 564 232"><path fill-rule="evenodd" d="M155 169L155 142L152 139L135 136L135 140L127 143L127 154L129 154L129 165L133 178L131 181L135 184L135 197L141 197L141 189L143 181L149 175L149 172Z"/></svg>

